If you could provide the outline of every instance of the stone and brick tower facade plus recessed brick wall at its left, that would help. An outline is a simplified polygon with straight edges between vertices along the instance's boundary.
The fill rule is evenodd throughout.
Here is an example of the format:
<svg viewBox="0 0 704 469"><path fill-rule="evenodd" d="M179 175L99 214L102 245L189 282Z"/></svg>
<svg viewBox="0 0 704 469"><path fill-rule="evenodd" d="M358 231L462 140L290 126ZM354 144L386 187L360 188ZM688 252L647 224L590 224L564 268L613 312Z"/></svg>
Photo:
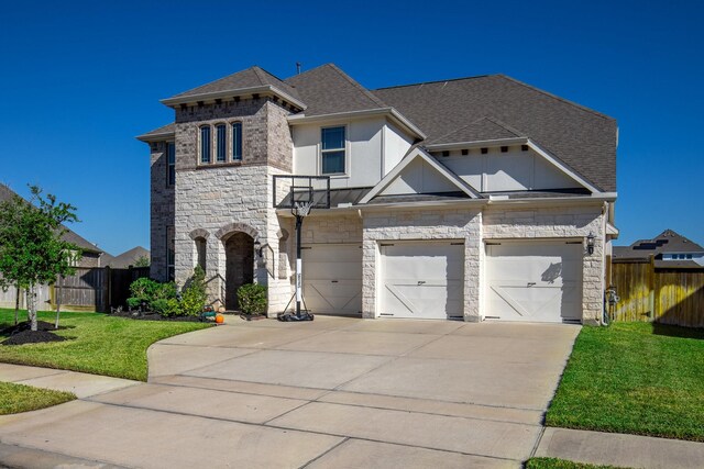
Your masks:
<svg viewBox="0 0 704 469"><path fill-rule="evenodd" d="M282 276L277 267L287 256L279 254L284 232L272 208L271 181L273 175L289 174L292 168L288 113L270 99L176 110L176 186L170 189L170 211L169 188L157 190L166 177L165 163L160 163L165 158L164 145L156 144L153 152L152 246L157 248L152 253L158 278L166 275L165 256L162 260L160 254L166 252L165 226L170 223L175 227L177 284L185 284L193 275L198 243L205 241L206 278L213 304L235 308L237 288L254 280L268 287L272 312L283 308L292 288L290 278ZM232 122L242 123L242 160L200 164L200 127ZM229 152L228 145L228 157ZM255 242L261 256L254 249Z"/></svg>

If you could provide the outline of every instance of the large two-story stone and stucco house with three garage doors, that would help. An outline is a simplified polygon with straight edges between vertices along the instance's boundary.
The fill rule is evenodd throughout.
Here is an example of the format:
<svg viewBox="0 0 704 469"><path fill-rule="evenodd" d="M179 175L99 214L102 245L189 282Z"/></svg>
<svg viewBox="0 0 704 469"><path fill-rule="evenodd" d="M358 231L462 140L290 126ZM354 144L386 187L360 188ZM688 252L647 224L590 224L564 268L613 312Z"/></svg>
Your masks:
<svg viewBox="0 0 704 469"><path fill-rule="evenodd" d="M367 90L334 65L252 67L162 102L175 122L139 137L154 278L201 265L213 302L235 309L256 281L283 311L295 228L272 179L329 176L331 208L304 223L315 313L601 322L612 118L503 75Z"/></svg>

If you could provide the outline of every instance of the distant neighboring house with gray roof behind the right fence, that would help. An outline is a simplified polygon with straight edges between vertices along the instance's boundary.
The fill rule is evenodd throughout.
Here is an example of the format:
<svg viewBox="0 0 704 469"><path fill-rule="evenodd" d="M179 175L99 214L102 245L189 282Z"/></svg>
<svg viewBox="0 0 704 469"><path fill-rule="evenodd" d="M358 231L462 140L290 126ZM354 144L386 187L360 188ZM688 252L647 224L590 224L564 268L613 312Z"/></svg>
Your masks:
<svg viewBox="0 0 704 469"><path fill-rule="evenodd" d="M649 259L651 256L659 269L704 267L704 247L673 230L666 230L652 239L638 239L630 246L614 246L614 259Z"/></svg>

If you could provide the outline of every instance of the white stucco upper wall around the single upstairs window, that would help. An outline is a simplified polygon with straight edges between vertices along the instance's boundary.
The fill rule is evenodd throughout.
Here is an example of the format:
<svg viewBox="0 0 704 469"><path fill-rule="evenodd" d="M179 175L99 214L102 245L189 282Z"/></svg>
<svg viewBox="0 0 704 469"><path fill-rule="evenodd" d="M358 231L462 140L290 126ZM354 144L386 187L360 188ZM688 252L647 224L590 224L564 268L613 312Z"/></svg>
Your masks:
<svg viewBox="0 0 704 469"><path fill-rule="evenodd" d="M302 124L294 127L294 174L321 175L320 130L344 125L344 175L330 178L332 188L371 187L382 179L383 118Z"/></svg>

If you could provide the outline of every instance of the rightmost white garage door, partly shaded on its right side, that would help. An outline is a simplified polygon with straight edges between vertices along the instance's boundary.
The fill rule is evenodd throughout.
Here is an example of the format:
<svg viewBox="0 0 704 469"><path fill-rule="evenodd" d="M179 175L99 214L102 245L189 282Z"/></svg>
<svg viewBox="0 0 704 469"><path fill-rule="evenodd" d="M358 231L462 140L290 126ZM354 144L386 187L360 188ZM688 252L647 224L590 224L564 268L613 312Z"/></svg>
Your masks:
<svg viewBox="0 0 704 469"><path fill-rule="evenodd" d="M582 319L581 243L487 243L486 255L487 319Z"/></svg>

